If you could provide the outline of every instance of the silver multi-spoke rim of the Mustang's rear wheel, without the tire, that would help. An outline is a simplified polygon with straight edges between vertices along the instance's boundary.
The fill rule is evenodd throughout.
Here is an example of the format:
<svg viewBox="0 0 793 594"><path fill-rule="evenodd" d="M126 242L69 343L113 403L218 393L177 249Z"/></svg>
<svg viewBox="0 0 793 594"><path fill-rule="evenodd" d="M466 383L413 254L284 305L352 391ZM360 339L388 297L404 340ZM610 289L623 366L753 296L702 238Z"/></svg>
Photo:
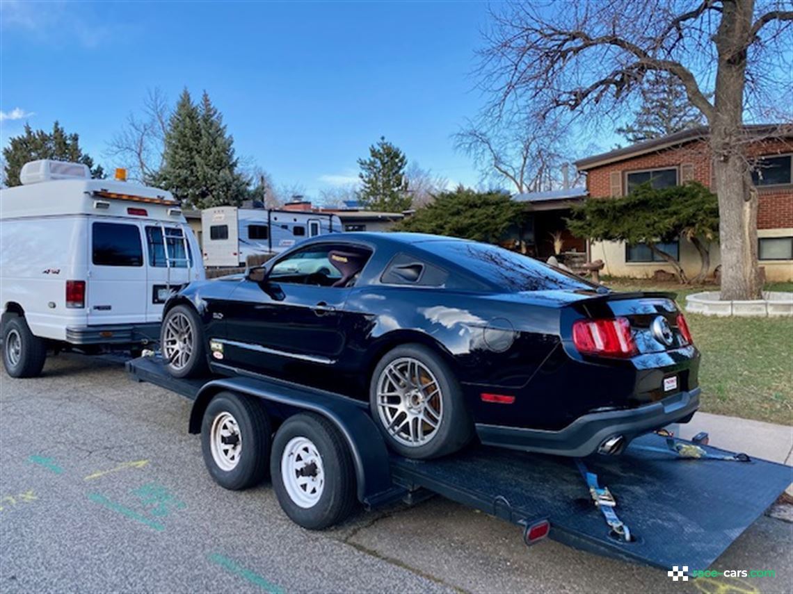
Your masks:
<svg viewBox="0 0 793 594"><path fill-rule="evenodd" d="M377 379L377 412L400 444L419 447L429 443L443 418L438 379L417 359L393 360Z"/></svg>

